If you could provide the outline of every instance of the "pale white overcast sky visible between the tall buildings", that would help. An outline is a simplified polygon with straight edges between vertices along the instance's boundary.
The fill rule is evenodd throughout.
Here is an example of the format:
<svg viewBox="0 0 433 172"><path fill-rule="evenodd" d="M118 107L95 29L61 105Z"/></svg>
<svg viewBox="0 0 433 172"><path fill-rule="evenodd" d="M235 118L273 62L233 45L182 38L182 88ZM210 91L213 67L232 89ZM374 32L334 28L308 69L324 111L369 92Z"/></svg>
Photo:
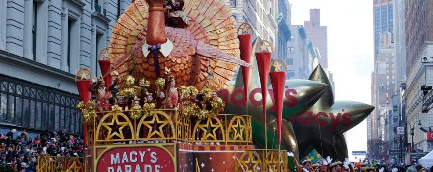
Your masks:
<svg viewBox="0 0 433 172"><path fill-rule="evenodd" d="M328 67L334 74L335 100L371 104L373 0L289 0L289 3L292 25L303 25L309 21L309 9L320 9L320 23L328 27ZM367 150L366 130L364 120L347 132L351 161L358 161L352 150Z"/></svg>

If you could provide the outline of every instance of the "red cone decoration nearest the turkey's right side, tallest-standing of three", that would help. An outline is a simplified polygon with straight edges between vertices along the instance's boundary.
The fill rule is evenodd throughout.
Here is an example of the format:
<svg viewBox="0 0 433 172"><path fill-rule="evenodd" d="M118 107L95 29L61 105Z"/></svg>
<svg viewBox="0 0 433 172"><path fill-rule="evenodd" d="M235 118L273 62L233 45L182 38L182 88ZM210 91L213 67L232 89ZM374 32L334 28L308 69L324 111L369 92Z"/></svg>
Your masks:
<svg viewBox="0 0 433 172"><path fill-rule="evenodd" d="M251 49L252 49L252 34L241 34L238 35L239 49L241 50L241 60L247 63L251 62ZM244 81L244 97L247 97L249 87L249 68L241 66L242 79ZM245 105L247 105L247 98L245 99Z"/></svg>

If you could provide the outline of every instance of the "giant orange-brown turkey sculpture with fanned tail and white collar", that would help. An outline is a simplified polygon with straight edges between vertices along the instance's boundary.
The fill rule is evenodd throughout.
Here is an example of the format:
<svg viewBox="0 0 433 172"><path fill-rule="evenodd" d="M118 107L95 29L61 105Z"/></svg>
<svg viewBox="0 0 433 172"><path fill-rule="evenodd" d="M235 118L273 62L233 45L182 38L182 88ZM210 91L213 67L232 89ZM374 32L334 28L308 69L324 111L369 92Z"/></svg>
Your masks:
<svg viewBox="0 0 433 172"><path fill-rule="evenodd" d="M185 0L184 12L192 19L185 29L164 25L164 2L136 0L114 25L110 72L119 72L119 88L127 75L155 83L167 67L177 86L217 90L227 86L238 65L254 67L239 59L236 21L224 2Z"/></svg>

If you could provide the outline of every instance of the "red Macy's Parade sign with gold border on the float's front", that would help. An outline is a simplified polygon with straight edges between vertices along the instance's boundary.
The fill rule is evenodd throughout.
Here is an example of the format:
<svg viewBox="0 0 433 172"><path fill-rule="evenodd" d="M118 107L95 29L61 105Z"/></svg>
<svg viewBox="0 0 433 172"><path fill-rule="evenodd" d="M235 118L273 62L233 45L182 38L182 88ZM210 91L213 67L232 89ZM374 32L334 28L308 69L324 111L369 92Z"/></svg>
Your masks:
<svg viewBox="0 0 433 172"><path fill-rule="evenodd" d="M96 172L175 172L174 148L173 145L164 146L164 144L108 146L96 159Z"/></svg>

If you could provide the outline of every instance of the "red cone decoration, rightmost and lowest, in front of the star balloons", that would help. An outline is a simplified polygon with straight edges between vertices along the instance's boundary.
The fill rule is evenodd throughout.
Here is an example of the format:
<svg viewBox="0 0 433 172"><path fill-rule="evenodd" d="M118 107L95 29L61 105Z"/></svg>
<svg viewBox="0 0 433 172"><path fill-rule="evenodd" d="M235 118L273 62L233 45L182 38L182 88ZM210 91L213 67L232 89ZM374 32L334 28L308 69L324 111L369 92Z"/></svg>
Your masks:
<svg viewBox="0 0 433 172"><path fill-rule="evenodd" d="M272 91L274 92L275 109L277 110L277 133L278 146L281 145L281 122L282 122L282 104L284 95L284 84L286 72L270 72Z"/></svg>

